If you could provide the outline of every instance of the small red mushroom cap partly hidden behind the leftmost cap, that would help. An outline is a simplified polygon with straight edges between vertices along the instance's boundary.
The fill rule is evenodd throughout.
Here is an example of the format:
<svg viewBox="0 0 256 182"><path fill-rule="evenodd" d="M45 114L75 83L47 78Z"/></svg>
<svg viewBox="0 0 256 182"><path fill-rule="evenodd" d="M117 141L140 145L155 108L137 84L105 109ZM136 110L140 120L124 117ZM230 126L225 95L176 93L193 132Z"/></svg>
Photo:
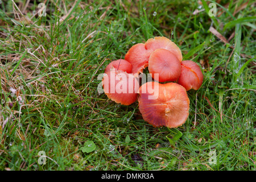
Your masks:
<svg viewBox="0 0 256 182"><path fill-rule="evenodd" d="M108 66L105 68L105 73L109 72L110 69L117 69L127 73L131 73L131 63L124 59L118 59L108 64Z"/></svg>

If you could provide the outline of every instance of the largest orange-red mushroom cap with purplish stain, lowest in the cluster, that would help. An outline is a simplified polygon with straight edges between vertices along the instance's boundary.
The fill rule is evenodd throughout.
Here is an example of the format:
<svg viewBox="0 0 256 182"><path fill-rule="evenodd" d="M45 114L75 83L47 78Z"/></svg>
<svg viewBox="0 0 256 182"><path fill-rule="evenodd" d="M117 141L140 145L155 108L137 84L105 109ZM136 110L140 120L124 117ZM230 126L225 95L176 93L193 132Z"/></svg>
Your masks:
<svg viewBox="0 0 256 182"><path fill-rule="evenodd" d="M174 82L146 82L139 88L138 102L144 121L154 127L178 127L188 118L187 92Z"/></svg>

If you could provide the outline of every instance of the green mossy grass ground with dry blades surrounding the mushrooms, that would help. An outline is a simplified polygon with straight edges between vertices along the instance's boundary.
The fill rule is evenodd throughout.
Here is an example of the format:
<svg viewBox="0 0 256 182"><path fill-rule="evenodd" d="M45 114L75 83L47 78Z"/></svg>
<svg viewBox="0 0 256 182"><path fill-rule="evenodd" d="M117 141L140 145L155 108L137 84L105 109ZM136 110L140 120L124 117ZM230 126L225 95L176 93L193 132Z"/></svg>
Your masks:
<svg viewBox="0 0 256 182"><path fill-rule="evenodd" d="M1 170L256 169L255 1L217 1L216 17L213 1L46 0L38 16L40 2L0 0ZM204 73L177 129L97 92L110 61L154 36Z"/></svg>

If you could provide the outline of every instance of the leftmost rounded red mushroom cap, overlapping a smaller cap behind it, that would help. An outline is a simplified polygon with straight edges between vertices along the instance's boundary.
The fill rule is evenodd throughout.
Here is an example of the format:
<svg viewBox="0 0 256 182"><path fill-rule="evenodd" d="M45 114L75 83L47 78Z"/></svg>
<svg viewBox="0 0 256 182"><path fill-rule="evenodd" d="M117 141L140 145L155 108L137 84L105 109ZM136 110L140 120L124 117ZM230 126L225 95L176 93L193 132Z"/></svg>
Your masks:
<svg viewBox="0 0 256 182"><path fill-rule="evenodd" d="M139 82L133 74L111 69L102 78L102 86L106 96L117 104L130 105L137 101Z"/></svg>

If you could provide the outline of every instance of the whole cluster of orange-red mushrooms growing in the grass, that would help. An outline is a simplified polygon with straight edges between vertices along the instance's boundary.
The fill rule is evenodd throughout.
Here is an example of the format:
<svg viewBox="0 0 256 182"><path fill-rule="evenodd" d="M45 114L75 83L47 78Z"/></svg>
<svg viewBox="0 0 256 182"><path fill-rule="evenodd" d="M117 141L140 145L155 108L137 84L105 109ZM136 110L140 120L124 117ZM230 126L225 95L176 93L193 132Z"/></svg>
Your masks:
<svg viewBox="0 0 256 182"><path fill-rule="evenodd" d="M152 81L141 84L145 68ZM102 86L108 98L130 105L138 100L144 121L154 127L178 127L189 114L187 91L203 83L201 68L184 60L180 48L170 39L156 36L132 46L125 59L112 61L105 68Z"/></svg>

